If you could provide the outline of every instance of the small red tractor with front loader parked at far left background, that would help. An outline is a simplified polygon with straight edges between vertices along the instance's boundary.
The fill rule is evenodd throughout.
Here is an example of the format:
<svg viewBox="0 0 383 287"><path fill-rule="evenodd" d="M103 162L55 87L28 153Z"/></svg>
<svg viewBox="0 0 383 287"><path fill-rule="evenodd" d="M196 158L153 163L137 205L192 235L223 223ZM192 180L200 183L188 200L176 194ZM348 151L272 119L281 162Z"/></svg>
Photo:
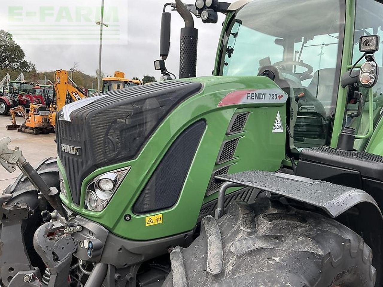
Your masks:
<svg viewBox="0 0 383 287"><path fill-rule="evenodd" d="M22 106L29 108L29 104L46 104L44 94L34 92L34 83L10 81L0 91L0 115L7 115L11 108ZM22 116L22 114L18 114Z"/></svg>

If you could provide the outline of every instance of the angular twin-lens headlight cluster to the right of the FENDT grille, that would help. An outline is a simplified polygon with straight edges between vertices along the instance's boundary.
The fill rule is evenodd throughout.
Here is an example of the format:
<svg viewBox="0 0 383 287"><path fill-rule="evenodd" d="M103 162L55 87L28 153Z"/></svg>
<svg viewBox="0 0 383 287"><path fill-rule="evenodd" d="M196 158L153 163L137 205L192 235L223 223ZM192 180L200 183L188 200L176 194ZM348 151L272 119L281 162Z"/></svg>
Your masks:
<svg viewBox="0 0 383 287"><path fill-rule="evenodd" d="M129 170L130 166L104 173L94 178L87 186L87 193L85 195L86 208L92 211L103 210Z"/></svg>

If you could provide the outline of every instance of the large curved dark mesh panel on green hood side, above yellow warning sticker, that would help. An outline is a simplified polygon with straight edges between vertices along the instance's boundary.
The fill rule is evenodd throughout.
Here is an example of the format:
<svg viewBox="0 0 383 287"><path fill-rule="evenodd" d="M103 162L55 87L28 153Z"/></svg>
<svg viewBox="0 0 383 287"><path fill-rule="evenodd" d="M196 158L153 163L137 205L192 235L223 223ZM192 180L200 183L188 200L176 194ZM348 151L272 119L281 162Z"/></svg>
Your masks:
<svg viewBox="0 0 383 287"><path fill-rule="evenodd" d="M205 127L205 121L198 121L173 142L134 204L134 213L166 209L177 202Z"/></svg>

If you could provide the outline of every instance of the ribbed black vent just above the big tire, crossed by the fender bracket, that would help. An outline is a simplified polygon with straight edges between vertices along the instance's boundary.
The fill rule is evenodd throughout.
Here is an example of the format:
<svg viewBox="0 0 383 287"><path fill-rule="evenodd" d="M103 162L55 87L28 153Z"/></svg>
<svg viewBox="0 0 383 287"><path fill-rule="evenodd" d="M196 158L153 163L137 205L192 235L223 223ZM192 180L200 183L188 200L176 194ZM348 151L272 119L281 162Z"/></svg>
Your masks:
<svg viewBox="0 0 383 287"><path fill-rule="evenodd" d="M255 197L257 196L259 189L255 188L242 188L237 191L232 192L225 196L225 208L229 206L232 201L244 201L247 203L253 203ZM217 208L217 200L208 202L202 205L200 214L198 215L198 221L200 221L206 215L214 215L214 210Z"/></svg>

